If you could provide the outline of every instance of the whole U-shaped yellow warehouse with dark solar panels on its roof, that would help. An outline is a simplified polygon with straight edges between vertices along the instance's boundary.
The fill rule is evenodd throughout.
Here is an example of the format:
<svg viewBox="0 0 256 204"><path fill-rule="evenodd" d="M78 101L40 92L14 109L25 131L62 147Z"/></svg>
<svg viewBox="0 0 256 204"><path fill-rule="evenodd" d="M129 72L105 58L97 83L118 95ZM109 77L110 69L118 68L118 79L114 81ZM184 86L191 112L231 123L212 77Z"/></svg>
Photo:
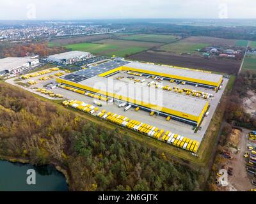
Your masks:
<svg viewBox="0 0 256 204"><path fill-rule="evenodd" d="M76 87L116 101L126 102L141 110L154 111L164 117L198 126L209 108L209 101L181 94L162 91L148 86L108 79L120 71L135 71L143 75L159 76L166 80L182 80L188 84L198 84L216 88L222 76L193 69L172 68L129 61L109 61L92 68L83 69L57 78L57 82Z"/></svg>

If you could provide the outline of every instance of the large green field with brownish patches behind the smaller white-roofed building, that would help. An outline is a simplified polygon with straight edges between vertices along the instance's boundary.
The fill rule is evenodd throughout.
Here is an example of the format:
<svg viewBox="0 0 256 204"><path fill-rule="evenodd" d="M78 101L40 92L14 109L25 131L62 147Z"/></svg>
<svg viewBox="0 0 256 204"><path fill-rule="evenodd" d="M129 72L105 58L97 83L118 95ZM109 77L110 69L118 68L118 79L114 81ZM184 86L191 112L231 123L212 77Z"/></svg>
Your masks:
<svg viewBox="0 0 256 204"><path fill-rule="evenodd" d="M125 57L159 45L161 43L108 39L95 41L94 43L77 43L65 47L71 50L91 52L95 55L117 55L119 57Z"/></svg>

